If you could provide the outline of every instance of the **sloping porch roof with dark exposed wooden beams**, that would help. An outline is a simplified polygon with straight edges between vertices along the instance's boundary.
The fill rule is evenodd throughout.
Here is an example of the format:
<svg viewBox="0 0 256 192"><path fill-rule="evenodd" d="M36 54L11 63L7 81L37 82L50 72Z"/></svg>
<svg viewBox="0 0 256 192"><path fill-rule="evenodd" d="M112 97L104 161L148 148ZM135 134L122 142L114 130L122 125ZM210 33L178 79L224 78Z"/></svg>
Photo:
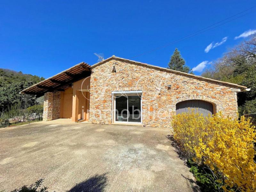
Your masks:
<svg viewBox="0 0 256 192"><path fill-rule="evenodd" d="M82 62L58 73L57 75L22 90L20 94L30 94L36 95L36 97L41 97L46 92L64 91L64 89L70 86L70 84L73 82L90 75L91 66Z"/></svg>

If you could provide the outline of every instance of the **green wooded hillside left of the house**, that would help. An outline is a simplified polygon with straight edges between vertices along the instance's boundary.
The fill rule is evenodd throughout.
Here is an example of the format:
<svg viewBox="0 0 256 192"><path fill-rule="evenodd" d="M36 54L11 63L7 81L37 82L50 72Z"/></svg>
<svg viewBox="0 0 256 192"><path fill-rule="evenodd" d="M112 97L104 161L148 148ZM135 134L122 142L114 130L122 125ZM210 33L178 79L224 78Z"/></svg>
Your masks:
<svg viewBox="0 0 256 192"><path fill-rule="evenodd" d="M23 89L43 81L44 77L23 74L9 69L0 69L0 117L4 113L16 106L16 108L26 109L39 102L34 95L20 94Z"/></svg>

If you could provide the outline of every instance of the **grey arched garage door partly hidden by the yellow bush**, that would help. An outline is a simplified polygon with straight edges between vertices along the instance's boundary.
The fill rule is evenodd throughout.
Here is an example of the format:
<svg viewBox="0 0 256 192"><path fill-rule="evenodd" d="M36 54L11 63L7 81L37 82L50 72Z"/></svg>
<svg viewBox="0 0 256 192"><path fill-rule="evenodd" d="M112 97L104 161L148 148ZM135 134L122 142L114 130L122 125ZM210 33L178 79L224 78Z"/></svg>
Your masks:
<svg viewBox="0 0 256 192"><path fill-rule="evenodd" d="M176 115L180 113L189 112L189 109L195 109L195 113L199 112L203 116L208 116L208 114L213 114L213 105L207 101L203 100L187 100L181 101L176 104Z"/></svg>

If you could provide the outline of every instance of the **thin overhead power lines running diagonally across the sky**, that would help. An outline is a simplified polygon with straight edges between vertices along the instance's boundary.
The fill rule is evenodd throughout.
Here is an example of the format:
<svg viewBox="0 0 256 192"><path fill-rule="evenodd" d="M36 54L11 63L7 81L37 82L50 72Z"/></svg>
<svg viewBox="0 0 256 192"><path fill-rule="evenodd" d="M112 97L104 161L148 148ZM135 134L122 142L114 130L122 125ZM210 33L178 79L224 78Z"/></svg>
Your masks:
<svg viewBox="0 0 256 192"><path fill-rule="evenodd" d="M241 13L247 12L247 11L249 11L249 10L255 8L255 7L256 7L256 6L253 6L253 7L249 8L249 9L246 9L246 10L244 10L244 11L242 11L242 12L239 12L239 13L237 13L237 14L235 14L235 15L232 15L231 17L228 17L228 18L226 18L226 19L224 19L224 20L218 21L217 23L214 23L214 24L209 25L209 26L207 26L207 27L205 27L205 28L202 28L202 29L200 29L200 30L198 30L198 31L196 31L196 32L194 32L194 33L191 33L191 34L189 34L189 35L183 36L183 37L181 37L181 38L179 38L179 39L176 39L176 40L174 40L174 41L172 41L172 42L170 42L170 43L168 43L168 44L165 44L165 45L156 47L155 49L149 50L148 52L144 52L144 53L141 53L141 54L139 54L139 55L133 56L133 57L131 57L131 58L129 58L129 59L132 59L132 58L135 58L135 57L139 57L139 56L145 55L145 54L147 54L147 53L154 52L154 51L156 51L156 50L158 50L158 49L162 49L162 48L164 48L164 47L167 47L167 46L170 46L170 45L172 45L172 44L178 43L178 42L180 42L180 41L184 41L184 40L189 39L189 38L191 38L191 37L197 36L197 35L199 35L199 34L201 34L201 33L204 33L204 32L206 32L206 31L209 31L209 30L211 30L211 29L213 29L213 28L216 28L216 27L219 27L219 26L221 26L221 25L224 25L224 24L226 24L226 23L228 23L228 22L231 22L231 21L233 21L233 20L236 20L236 19L238 19L238 18L240 18L240 17L243 17L243 16L249 14L250 12L245 13L245 14L243 14L243 15L240 15ZM236 17L237 15L240 15L240 16ZM236 17L236 18L231 19L231 18L233 18L233 17ZM229 20L229 19L231 19L231 20ZM222 22L225 21L225 20L228 20L228 21L222 23ZM219 24L219 23L221 23L221 24ZM219 24L219 25L217 25L217 24ZM214 26L214 25L216 25L216 26ZM212 27L212 26L214 26L214 27ZM212 27L212 28L210 28L210 27Z"/></svg>

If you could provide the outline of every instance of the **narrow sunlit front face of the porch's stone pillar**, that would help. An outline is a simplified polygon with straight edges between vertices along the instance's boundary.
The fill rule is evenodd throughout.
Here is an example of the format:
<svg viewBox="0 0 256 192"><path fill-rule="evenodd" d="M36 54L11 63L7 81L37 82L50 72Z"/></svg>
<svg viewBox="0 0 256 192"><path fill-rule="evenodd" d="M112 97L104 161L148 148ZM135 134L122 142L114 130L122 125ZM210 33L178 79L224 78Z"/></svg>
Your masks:
<svg viewBox="0 0 256 192"><path fill-rule="evenodd" d="M52 120L52 104L53 104L53 93L52 92L44 93L43 121Z"/></svg>

